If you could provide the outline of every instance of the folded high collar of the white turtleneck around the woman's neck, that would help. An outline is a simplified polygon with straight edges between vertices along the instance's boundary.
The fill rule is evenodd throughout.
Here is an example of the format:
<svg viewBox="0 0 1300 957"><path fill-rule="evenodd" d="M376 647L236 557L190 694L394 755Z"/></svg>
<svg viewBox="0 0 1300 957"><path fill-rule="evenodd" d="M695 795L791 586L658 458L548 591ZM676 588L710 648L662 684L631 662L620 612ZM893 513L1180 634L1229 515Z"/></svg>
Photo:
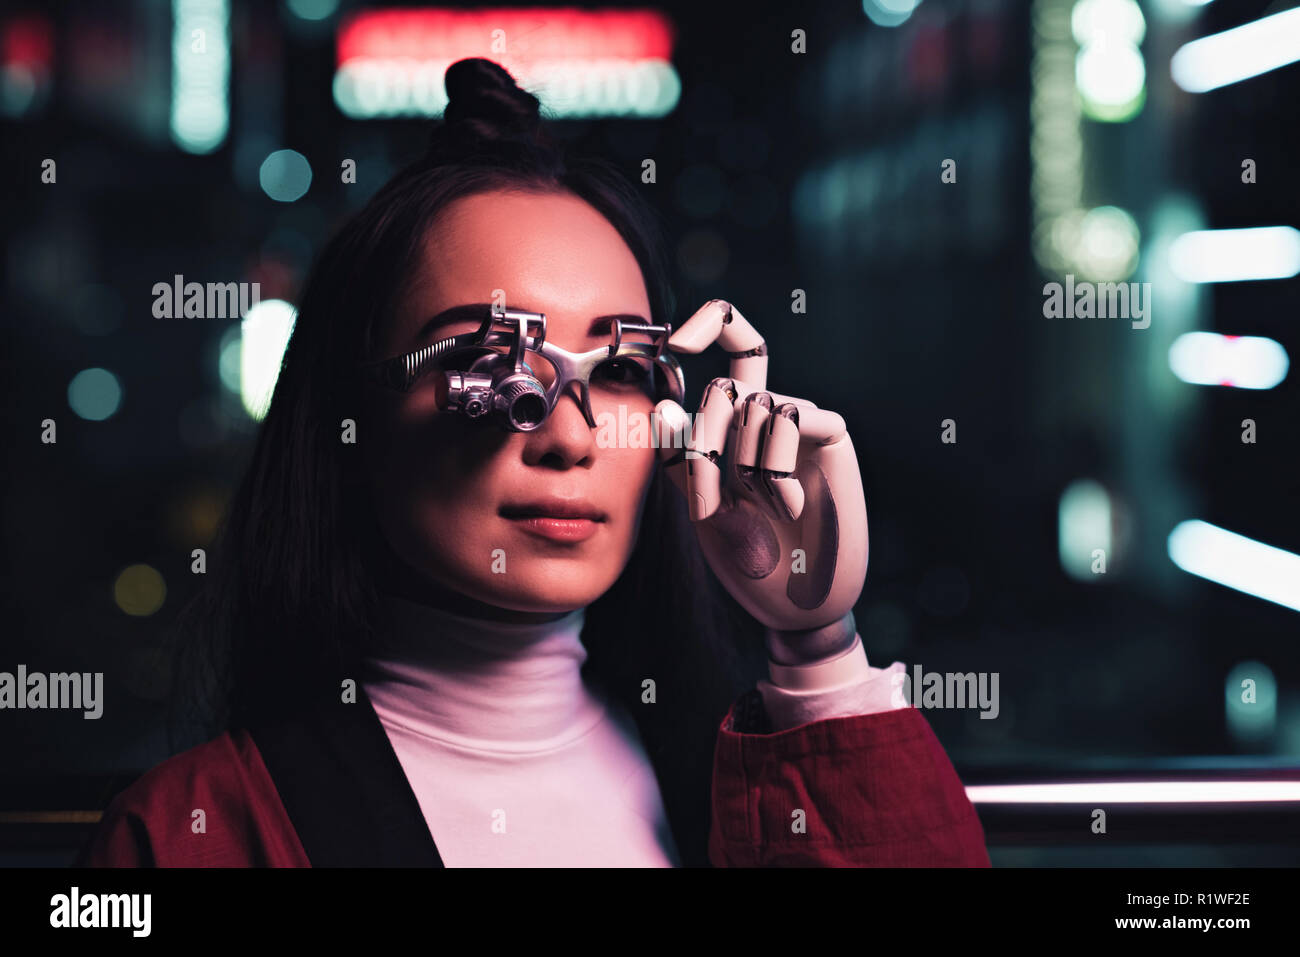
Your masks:
<svg viewBox="0 0 1300 957"><path fill-rule="evenodd" d="M386 627L363 684L377 710L445 744L540 753L592 731L604 715L582 683L586 610L537 624L452 614L382 597Z"/></svg>

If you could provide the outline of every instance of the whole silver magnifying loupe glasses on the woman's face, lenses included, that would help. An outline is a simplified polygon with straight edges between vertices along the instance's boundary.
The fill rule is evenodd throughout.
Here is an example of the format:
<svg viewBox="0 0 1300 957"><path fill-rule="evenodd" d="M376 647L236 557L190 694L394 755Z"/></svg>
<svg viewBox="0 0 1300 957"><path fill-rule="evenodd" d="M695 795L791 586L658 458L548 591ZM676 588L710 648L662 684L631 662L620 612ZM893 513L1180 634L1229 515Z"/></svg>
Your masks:
<svg viewBox="0 0 1300 957"><path fill-rule="evenodd" d="M363 363L361 369L368 381L399 393L432 373L438 408L507 432L540 428L571 382L578 385L582 417L592 428L593 389L602 397L649 394L682 402L686 381L667 350L671 325L614 319L610 333L608 346L569 352L546 341L545 313L493 308L472 333ZM625 341L629 334L650 341Z"/></svg>

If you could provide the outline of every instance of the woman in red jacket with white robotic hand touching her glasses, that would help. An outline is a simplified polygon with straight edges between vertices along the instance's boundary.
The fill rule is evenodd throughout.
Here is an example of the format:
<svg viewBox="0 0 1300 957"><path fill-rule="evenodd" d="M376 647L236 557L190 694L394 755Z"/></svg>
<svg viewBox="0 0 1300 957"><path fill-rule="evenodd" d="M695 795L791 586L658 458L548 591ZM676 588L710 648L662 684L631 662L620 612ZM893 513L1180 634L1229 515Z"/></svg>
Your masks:
<svg viewBox="0 0 1300 957"><path fill-rule="evenodd" d="M190 610L179 687L225 731L120 794L83 862L987 866L853 625L842 420L764 391L727 303L664 348L634 190L497 64L446 85L426 156L313 268ZM688 428L672 351L714 339L732 376ZM473 393L503 365L534 377L516 404Z"/></svg>

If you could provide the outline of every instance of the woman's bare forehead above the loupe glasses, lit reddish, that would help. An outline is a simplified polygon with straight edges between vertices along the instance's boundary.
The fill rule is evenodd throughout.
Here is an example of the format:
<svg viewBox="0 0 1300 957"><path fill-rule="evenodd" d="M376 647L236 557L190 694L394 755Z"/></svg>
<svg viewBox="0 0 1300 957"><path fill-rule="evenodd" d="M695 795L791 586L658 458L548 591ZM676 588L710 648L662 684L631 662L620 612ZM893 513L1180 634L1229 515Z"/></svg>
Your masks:
<svg viewBox="0 0 1300 957"><path fill-rule="evenodd" d="M502 299L545 312L547 338L572 350L608 341L608 333L590 334L595 316L650 320L636 256L595 208L572 194L485 192L451 203L429 230L389 345L469 332L476 321L420 335L445 309Z"/></svg>

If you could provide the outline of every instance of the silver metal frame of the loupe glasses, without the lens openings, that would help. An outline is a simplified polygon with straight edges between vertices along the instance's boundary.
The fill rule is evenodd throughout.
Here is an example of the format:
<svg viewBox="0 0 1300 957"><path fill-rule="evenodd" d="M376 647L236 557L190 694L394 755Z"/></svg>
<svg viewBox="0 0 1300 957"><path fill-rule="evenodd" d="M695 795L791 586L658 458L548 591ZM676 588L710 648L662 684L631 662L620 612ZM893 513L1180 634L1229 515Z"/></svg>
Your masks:
<svg viewBox="0 0 1300 957"><path fill-rule="evenodd" d="M495 329L498 322L506 328ZM530 326L537 326L537 332L526 351L540 355L555 369L555 380L549 389L545 389L532 369L524 364L524 342L528 339L526 330ZM391 359L363 363L361 372L367 381L374 385L408 393L419 378L436 368L436 359L468 348L508 346L508 355L490 352L477 359L464 372L443 371L446 378L439 384L439 399L443 398L442 390L445 390L447 411L456 411L474 420L495 417L498 425L507 432L532 432L540 428L555 410L555 403L569 382L578 384L582 417L593 429L597 428L595 416L592 413L590 378L602 363L611 359L653 360L663 372L662 380L667 384L668 394L662 398L682 402L686 380L677 356L666 348L668 337L672 335L672 325L624 322L615 319L610 332L608 346L589 352L569 352L546 341L546 313L493 308L482 325L472 333L439 339ZM624 342L624 333L646 333L654 341ZM651 376L655 367L651 368ZM664 390L656 389L656 391Z"/></svg>

